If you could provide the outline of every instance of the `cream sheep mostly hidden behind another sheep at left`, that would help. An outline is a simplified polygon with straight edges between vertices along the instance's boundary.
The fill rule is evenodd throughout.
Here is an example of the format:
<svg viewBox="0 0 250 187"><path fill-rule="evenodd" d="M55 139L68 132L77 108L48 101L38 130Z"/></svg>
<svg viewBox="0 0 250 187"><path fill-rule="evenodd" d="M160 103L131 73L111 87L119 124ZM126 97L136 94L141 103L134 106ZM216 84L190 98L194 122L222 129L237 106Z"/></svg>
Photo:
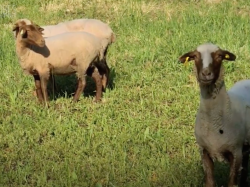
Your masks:
<svg viewBox="0 0 250 187"><path fill-rule="evenodd" d="M51 37L65 32L79 32L84 31L101 39L104 48L104 68L103 72L103 88L105 89L108 83L110 69L106 62L107 50L110 44L115 42L115 34L112 29L105 23L97 19L76 19L66 21L57 25L42 26L44 29L43 36Z"/></svg>

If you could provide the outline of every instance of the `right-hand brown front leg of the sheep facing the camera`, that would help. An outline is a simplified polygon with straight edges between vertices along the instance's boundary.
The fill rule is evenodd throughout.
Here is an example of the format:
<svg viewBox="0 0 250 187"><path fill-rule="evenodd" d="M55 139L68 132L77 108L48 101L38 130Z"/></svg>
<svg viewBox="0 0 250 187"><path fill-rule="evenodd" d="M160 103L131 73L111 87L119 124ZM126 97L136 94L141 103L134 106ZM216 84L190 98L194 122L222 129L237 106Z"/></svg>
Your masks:
<svg viewBox="0 0 250 187"><path fill-rule="evenodd" d="M228 160L230 163L230 174L229 174L229 182L228 187L237 186L237 177L239 174L239 169L242 163L242 150L240 150L236 154L229 153Z"/></svg>

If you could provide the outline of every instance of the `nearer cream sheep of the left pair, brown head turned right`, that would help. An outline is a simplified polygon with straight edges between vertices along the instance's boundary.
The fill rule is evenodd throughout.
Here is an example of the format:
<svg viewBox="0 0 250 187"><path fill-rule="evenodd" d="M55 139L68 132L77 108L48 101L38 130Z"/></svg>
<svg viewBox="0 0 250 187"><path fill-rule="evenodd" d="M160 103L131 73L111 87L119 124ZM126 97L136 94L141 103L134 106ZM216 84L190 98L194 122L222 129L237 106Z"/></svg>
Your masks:
<svg viewBox="0 0 250 187"><path fill-rule="evenodd" d="M96 82L96 100L101 99L101 76L97 71L103 59L101 42L86 33L64 33L44 39L43 29L27 19L18 20L16 53L22 69L34 76L36 93L40 102L48 101L47 82L51 72L56 75L76 73L78 86L73 100L77 101L86 85L88 72Z"/></svg>

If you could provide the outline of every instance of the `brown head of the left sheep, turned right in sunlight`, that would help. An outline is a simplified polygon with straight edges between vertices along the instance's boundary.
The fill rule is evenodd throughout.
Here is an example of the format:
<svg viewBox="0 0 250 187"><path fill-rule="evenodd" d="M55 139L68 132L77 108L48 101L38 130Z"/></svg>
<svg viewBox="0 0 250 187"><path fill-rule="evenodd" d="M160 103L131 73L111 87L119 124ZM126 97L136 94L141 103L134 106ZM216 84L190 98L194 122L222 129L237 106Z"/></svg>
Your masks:
<svg viewBox="0 0 250 187"><path fill-rule="evenodd" d="M20 19L14 24L12 31L16 32L16 38L19 37L20 40L26 44L36 45L39 47L43 47L45 45L45 40L42 36L43 28L34 24L32 21Z"/></svg>

